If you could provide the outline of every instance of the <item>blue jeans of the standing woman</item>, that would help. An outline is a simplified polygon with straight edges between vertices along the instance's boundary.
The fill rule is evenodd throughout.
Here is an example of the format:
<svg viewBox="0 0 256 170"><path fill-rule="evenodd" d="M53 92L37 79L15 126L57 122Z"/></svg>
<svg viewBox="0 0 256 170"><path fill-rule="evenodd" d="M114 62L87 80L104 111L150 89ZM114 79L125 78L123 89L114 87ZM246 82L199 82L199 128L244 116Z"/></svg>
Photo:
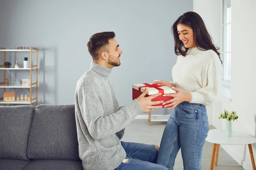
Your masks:
<svg viewBox="0 0 256 170"><path fill-rule="evenodd" d="M181 148L184 170L201 170L201 156L208 131L205 105L180 103L172 111L164 129L157 164L173 170Z"/></svg>

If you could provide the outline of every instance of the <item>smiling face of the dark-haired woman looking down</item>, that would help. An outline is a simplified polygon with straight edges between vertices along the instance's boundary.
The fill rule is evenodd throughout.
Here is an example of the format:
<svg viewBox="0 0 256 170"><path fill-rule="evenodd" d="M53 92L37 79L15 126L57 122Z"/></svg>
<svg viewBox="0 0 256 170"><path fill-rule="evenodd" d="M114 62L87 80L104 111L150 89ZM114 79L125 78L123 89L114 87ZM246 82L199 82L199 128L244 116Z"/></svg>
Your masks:
<svg viewBox="0 0 256 170"><path fill-rule="evenodd" d="M179 34L180 40L183 42L186 48L196 47L194 31L192 28L179 23L177 25L177 32Z"/></svg>

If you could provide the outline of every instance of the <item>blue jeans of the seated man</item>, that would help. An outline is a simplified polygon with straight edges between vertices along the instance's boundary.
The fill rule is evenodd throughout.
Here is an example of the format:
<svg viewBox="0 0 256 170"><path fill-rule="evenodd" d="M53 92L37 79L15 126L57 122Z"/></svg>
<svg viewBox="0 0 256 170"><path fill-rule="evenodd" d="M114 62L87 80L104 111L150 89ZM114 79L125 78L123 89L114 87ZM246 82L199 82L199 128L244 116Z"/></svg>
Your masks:
<svg viewBox="0 0 256 170"><path fill-rule="evenodd" d="M115 170L168 170L157 161L158 150L153 144L121 142L128 162L122 162Z"/></svg>

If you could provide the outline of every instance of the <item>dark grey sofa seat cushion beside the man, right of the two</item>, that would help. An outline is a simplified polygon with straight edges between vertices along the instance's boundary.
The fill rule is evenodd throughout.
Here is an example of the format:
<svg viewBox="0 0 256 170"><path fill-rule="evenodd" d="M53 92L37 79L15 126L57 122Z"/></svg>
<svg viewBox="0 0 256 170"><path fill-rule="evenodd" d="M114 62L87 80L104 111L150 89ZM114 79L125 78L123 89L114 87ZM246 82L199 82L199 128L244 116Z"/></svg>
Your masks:
<svg viewBox="0 0 256 170"><path fill-rule="evenodd" d="M82 161L38 159L32 160L22 170L83 170Z"/></svg>

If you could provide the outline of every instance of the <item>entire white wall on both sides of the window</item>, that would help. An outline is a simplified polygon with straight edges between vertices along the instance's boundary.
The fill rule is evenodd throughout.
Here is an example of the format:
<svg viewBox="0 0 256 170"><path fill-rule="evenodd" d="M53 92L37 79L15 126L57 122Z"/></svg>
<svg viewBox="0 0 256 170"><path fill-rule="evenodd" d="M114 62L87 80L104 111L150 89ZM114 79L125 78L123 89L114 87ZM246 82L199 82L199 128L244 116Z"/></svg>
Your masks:
<svg viewBox="0 0 256 170"><path fill-rule="evenodd" d="M194 11L203 17L215 44L220 42L221 0L194 0ZM224 109L237 111L239 119L233 122L233 130L256 136L256 54L254 52L256 34L255 0L232 0L231 2L231 99L222 96L212 106L212 124L225 129L226 122L218 119ZM219 21L218 21L219 20ZM215 37L216 36L216 37ZM219 38L218 38L219 37ZM248 146L222 146L245 170L251 170L252 164ZM253 144L255 159L255 145Z"/></svg>

